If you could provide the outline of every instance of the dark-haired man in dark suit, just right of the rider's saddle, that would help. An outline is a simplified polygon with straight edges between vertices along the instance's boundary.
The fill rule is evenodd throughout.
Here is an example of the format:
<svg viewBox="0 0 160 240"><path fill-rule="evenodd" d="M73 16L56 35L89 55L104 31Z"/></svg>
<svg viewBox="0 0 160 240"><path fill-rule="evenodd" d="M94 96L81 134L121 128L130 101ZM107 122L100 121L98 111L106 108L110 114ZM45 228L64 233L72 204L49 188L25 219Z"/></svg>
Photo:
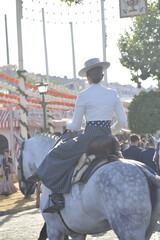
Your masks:
<svg viewBox="0 0 160 240"><path fill-rule="evenodd" d="M130 146L123 151L123 157L125 159L133 159L140 161L141 148L138 147L139 137L136 134L130 135Z"/></svg>

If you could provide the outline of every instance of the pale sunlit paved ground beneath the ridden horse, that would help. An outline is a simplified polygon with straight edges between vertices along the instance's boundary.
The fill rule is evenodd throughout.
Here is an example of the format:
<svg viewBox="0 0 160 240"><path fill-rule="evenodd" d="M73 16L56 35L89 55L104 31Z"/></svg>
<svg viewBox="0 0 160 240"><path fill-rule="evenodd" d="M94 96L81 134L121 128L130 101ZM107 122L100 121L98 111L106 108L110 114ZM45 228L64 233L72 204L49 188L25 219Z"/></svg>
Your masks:
<svg viewBox="0 0 160 240"><path fill-rule="evenodd" d="M0 240L36 240L43 225L39 210L32 209L0 217ZM118 240L113 231L104 236L88 236L87 240ZM141 239L139 239L141 240ZM160 240L160 224L151 240Z"/></svg>

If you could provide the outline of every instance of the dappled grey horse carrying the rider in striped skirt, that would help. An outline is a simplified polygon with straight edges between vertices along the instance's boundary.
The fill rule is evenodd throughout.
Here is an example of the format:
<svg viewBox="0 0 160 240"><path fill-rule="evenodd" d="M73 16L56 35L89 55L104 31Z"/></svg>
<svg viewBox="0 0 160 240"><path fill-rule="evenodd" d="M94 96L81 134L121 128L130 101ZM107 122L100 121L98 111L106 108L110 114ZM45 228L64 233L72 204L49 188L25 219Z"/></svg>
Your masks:
<svg viewBox="0 0 160 240"><path fill-rule="evenodd" d="M22 143L23 140L19 138ZM52 149L55 138L35 135L23 143L22 168L29 179ZM160 178L143 165L120 159L98 168L86 184L65 194L61 213L43 213L51 191L44 185L40 208L50 240L85 240L113 229L120 240L148 240L160 219Z"/></svg>

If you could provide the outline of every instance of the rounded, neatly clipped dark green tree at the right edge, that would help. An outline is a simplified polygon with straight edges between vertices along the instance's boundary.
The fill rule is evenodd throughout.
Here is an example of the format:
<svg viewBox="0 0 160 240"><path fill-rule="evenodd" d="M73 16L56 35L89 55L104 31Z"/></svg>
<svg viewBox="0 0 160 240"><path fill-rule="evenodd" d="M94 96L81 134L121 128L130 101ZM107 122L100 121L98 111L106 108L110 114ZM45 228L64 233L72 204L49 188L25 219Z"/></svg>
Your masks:
<svg viewBox="0 0 160 240"><path fill-rule="evenodd" d="M153 134L160 130L160 91L141 92L133 98L128 126L137 134Z"/></svg>

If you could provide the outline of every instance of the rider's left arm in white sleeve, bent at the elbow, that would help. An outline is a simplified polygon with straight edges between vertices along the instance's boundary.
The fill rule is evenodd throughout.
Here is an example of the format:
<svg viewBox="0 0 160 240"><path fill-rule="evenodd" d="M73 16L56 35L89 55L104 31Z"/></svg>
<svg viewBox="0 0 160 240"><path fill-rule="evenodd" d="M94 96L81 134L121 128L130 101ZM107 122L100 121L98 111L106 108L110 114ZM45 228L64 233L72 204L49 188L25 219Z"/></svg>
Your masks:
<svg viewBox="0 0 160 240"><path fill-rule="evenodd" d="M67 121L66 128L72 131L77 131L81 128L82 120L85 112L84 98L81 93L78 94L75 110L72 120Z"/></svg>

